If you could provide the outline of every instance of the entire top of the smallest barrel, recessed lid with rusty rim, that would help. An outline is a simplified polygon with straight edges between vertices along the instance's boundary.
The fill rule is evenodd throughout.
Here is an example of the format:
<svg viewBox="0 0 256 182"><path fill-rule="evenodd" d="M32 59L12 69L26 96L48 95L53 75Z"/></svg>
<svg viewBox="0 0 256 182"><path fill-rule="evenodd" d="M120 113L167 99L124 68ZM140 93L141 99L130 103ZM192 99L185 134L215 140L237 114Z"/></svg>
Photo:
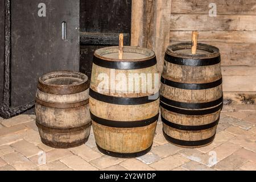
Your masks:
<svg viewBox="0 0 256 182"><path fill-rule="evenodd" d="M89 88L88 76L74 71L46 73L38 80L38 89L49 94L75 94Z"/></svg>

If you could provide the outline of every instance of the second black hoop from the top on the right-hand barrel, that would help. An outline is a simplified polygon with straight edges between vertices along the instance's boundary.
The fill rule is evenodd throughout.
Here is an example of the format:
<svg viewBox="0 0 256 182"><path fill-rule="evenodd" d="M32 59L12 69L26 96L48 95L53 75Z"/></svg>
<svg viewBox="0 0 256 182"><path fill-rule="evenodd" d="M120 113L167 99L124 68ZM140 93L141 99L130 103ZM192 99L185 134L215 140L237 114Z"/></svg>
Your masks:
<svg viewBox="0 0 256 182"><path fill-rule="evenodd" d="M164 85L172 86L174 88L179 88L179 89L187 89L187 90L203 90L203 89L211 89L216 86L219 86L222 84L222 78L220 78L217 81L205 83L205 84L185 84L181 82L176 82L172 80L167 80L164 77L161 77L161 82Z"/></svg>

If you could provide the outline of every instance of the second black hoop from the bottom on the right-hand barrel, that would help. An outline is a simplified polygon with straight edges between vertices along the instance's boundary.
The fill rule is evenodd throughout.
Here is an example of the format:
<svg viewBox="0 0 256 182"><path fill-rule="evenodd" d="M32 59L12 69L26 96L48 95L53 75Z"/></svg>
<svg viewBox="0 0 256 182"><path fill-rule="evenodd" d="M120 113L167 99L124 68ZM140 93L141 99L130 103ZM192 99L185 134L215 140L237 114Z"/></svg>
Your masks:
<svg viewBox="0 0 256 182"><path fill-rule="evenodd" d="M174 122L170 122L168 121L167 119L164 119L163 116L161 116L162 118L162 122L164 124L166 124L167 126L170 126L174 129L177 129L177 130L183 130L183 131L198 131L198 130L207 130L207 129L210 129L216 125L218 125L218 121L220 121L220 118L218 118L216 121L212 122L212 123L209 123L207 125L193 125L193 126L188 126L188 125L179 125L177 123L174 123Z"/></svg>

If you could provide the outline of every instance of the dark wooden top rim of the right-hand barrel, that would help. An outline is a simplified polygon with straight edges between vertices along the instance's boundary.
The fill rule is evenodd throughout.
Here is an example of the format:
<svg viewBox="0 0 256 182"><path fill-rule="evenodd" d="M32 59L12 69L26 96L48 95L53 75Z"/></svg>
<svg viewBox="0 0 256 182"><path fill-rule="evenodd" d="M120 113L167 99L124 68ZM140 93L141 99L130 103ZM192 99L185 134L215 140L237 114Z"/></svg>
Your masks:
<svg viewBox="0 0 256 182"><path fill-rule="evenodd" d="M192 55L188 53L175 52L180 49L191 49L191 47L192 47L191 42L172 44L171 46L167 47L166 53L171 56L188 58L188 59L209 59L212 57L220 56L220 49L204 43L197 43L197 49L208 51L209 52L208 54L205 53L205 54Z"/></svg>

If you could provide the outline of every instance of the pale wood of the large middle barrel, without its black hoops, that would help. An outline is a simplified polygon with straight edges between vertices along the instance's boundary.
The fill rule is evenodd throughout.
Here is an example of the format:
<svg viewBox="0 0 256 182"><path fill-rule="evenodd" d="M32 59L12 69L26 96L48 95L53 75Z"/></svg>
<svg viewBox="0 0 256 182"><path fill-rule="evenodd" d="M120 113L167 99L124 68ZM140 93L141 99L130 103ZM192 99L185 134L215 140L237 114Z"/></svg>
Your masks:
<svg viewBox="0 0 256 182"><path fill-rule="evenodd" d="M97 52L94 53L94 55L96 55L97 57L101 55L101 59L108 59L109 61L117 60L118 46L99 49ZM130 57L127 57L129 55ZM150 59L150 57L152 58L152 56L154 56L154 52L149 51L148 49L123 47L123 59L131 59L131 62L145 59L147 60ZM137 73L138 75L140 75L141 73L148 73L154 76L154 73L157 73L156 64L153 66L148 66L147 68L114 69L114 73L111 73L111 71L113 72L113 69L106 68L103 65L99 66L93 64L90 89L98 93L98 88L101 88L100 82L102 81L101 79L99 79L100 74L105 73L106 75L108 75L105 76L105 78L109 78L109 85L108 89L105 88L105 92L101 92L101 94L111 97L126 98L144 97L150 96L152 94L148 92L143 92L141 86L139 86L139 84L141 84L141 81L138 81L135 84L131 85L136 87L139 86L138 92L127 92L127 88L129 88L130 84L128 84L128 82L126 82L127 80L125 79L118 80L118 78L116 77L117 80L114 81L115 84L122 83L120 85L127 85L127 88L125 88L125 86L118 87L117 85L113 84L112 81L113 76L121 74L123 76L126 76L125 78L129 78L130 73ZM110 81L110 79L112 79L112 81ZM143 84L147 84L147 82L143 82ZM158 88L156 89L158 90ZM113 123L113 125L117 125L115 124L115 122L118 123L141 121L144 119L152 118L159 113L159 99L148 102L146 104L136 105L114 104L112 102L113 100L100 101L90 95L90 112L98 118L109 120ZM115 100L118 100L118 98L115 98ZM141 127L110 127L101 125L96 119L92 119L94 136L98 146L100 148L103 148L104 150L117 152L119 155L122 155L141 152L147 150L152 145L157 119L155 119L154 122Z"/></svg>

